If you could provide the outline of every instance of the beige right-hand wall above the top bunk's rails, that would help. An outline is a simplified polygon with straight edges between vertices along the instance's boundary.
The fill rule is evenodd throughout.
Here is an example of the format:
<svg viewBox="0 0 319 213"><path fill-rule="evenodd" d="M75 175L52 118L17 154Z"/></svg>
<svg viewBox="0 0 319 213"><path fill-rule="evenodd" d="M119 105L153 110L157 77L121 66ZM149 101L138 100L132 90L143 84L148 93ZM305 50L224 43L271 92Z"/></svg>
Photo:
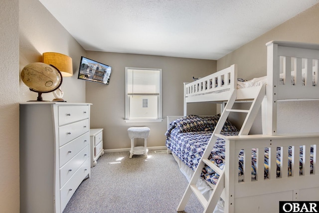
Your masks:
<svg viewBox="0 0 319 213"><path fill-rule="evenodd" d="M217 60L217 70L238 64L238 77L267 74L266 43L272 40L319 43L319 3Z"/></svg>

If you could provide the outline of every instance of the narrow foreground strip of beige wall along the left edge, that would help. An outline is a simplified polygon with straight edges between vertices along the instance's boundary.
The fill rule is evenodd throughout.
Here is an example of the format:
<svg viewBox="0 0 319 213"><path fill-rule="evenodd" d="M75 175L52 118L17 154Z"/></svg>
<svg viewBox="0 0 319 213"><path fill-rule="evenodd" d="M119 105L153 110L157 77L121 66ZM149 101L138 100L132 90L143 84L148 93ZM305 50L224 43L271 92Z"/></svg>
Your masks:
<svg viewBox="0 0 319 213"><path fill-rule="evenodd" d="M0 212L19 212L18 0L1 1L0 12Z"/></svg>

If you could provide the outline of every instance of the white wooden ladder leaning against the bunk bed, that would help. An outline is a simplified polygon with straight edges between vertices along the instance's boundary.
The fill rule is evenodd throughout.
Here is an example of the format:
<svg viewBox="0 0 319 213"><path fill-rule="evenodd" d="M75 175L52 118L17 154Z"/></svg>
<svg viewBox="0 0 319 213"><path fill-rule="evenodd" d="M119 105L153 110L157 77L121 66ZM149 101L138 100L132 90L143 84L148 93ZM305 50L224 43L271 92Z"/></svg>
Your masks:
<svg viewBox="0 0 319 213"><path fill-rule="evenodd" d="M255 98L253 99L253 102L250 106L249 110L237 110L233 109L233 105L237 98L237 90L234 89L231 92L230 98L226 103L226 106L217 122L217 125L215 127L214 132L212 133L212 136L210 138L210 141L207 144L207 147L198 163L198 166L188 184L188 187L183 195L183 198L181 199L178 207L177 212L184 211L186 204L191 196L191 193L193 192L195 196L197 197L198 201L201 203L201 205L204 207L203 213L212 213L215 209L215 206L217 205L217 202L225 188L225 176L224 176L224 170L219 169L214 163L212 163L210 160L208 160L208 157L211 153L211 150L213 149L215 142L217 140L217 134L219 134L226 122L226 119L228 118L228 115L230 112L237 112L237 113L247 113L245 121L239 131L238 135L248 135L249 130L255 120L255 117L258 113L258 110L261 106L262 100L265 97L265 85L259 86L258 90L256 90ZM216 185L209 184L211 188L213 189L213 192L211 193L208 201L205 199L205 197L201 194L201 192L198 190L196 183L197 180L200 178L200 174L202 169L207 165L212 170L214 170L218 175L219 178L217 180Z"/></svg>

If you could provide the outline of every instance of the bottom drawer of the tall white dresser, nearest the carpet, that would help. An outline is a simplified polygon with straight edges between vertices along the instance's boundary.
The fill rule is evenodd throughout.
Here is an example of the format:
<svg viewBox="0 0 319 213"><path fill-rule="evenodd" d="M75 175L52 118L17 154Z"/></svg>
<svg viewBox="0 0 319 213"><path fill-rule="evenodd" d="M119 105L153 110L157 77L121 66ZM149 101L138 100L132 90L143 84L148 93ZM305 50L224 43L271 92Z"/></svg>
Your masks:
<svg viewBox="0 0 319 213"><path fill-rule="evenodd" d="M68 204L72 195L81 184L83 179L90 172L90 159L87 159L76 171L75 175L60 189L60 199L61 199L61 213L63 212L65 206Z"/></svg>

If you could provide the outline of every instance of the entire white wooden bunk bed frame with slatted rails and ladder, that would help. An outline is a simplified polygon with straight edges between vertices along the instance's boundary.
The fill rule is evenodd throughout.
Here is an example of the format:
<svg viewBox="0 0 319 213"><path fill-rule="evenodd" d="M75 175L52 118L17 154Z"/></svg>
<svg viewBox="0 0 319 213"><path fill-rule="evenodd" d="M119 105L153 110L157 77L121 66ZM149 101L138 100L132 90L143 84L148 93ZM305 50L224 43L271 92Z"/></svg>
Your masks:
<svg viewBox="0 0 319 213"><path fill-rule="evenodd" d="M239 136L221 135L219 132L222 127L220 127L214 131L207 145L207 147L214 145L216 139L213 140L213 137L225 140L225 159L227 159L227 163L221 175L224 183L217 183L218 188L215 188L216 193L217 191L222 192L220 197L224 201L225 213L279 212L279 201L319 201L319 149L317 149L319 147L319 130L315 133L289 135L279 135L277 133L277 102L279 100L319 99L317 75L319 45L285 41L272 41L266 45L267 84L262 86L263 83L261 83L261 86L258 86L257 93L256 87L237 89L236 65L184 85L184 116L187 114L187 103L191 102L222 103L227 101L229 103L235 100L253 100L254 103L258 99L256 107L248 112L248 114L253 112L254 115L247 116ZM266 89L263 90L263 87ZM263 99L261 105L264 134L248 135L257 113L256 110L260 108L261 99ZM232 109L223 111L221 125L228 117L229 112L226 116L223 115L227 110L232 111ZM168 123L175 118L168 117ZM278 147L281 150L279 177L276 165ZM300 174L299 153L301 147L304 151L302 153L303 170ZM265 156L263 150L265 148L269 149L269 174L267 178L264 178ZM292 150L292 156L288 155L289 148ZM312 171L310 170L311 149L313 149ZM238 154L241 150L245 154L243 180L239 182ZM252 150L257 150L256 178L253 180L251 175ZM209 152L207 153L209 154ZM204 156L208 156L208 154L204 152L202 158L204 159ZM288 175L287 169L283 169L288 167L289 158L291 158L292 165L291 175ZM197 174L200 174L200 171ZM194 181L195 183L203 182L201 179L194 178L194 176L190 180L190 185L177 211L183 211L185 208L190 196L189 192L191 192L189 189L192 188L191 185L194 184ZM221 189L219 188L220 185L222 185ZM198 187L197 190L207 192L207 190L200 190L200 188ZM197 195L197 193L195 195L205 208L205 212L213 212L217 203L216 196L211 198L212 201L204 201L203 197Z"/></svg>

